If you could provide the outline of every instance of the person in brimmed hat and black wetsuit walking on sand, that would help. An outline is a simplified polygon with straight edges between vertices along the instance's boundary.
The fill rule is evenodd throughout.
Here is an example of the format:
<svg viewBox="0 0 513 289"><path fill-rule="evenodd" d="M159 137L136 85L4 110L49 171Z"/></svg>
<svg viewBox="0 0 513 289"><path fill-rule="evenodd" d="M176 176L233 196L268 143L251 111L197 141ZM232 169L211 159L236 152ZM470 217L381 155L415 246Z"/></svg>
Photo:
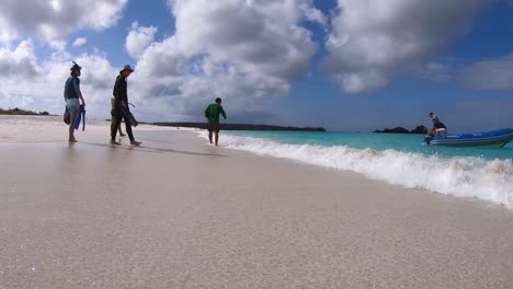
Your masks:
<svg viewBox="0 0 513 289"><path fill-rule="evenodd" d="M115 123L111 125L111 144L121 144L116 141L116 134L117 128L119 127L122 119L125 119L125 128L126 134L128 134L128 138L130 139L132 146L139 146L141 142L136 141L134 138L134 134L132 132L132 125L127 120L127 113L129 112L128 108L128 93L127 93L127 84L126 79L134 72L130 66L124 66L122 70L119 70L119 76L116 78L116 82L114 83L114 114L115 114Z"/></svg>

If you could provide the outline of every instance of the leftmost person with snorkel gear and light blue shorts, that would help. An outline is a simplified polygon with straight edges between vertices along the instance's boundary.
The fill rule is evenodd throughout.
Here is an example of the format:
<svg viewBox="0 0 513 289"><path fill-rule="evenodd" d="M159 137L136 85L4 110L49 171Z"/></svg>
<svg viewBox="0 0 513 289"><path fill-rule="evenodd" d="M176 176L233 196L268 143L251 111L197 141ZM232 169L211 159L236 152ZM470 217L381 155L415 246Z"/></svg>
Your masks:
<svg viewBox="0 0 513 289"><path fill-rule="evenodd" d="M84 107L86 102L83 101L82 92L80 91L80 74L82 68L73 61L73 66L69 69L70 77L66 80L64 97L66 102L66 109L69 112L69 141L76 142L75 138L75 120L77 115L80 113L80 106ZM82 104L80 105L80 102Z"/></svg>

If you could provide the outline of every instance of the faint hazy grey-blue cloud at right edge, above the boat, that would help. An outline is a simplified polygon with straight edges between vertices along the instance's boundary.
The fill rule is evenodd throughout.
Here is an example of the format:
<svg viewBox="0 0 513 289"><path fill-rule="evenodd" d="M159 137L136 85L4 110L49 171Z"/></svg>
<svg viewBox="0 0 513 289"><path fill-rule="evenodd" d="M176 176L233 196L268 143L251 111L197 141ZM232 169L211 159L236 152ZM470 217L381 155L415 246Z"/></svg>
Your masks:
<svg viewBox="0 0 513 289"><path fill-rule="evenodd" d="M461 69L459 81L476 90L513 89L513 53L497 59L472 63Z"/></svg>

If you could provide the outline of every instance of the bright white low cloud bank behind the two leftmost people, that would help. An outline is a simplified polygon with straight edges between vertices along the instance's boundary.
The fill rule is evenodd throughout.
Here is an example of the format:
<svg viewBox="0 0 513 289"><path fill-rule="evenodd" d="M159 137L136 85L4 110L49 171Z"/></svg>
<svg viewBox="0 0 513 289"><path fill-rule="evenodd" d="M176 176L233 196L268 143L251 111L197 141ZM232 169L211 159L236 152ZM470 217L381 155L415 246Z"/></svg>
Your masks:
<svg viewBox="0 0 513 289"><path fill-rule="evenodd" d="M58 51L38 60L32 41L10 50L0 48L0 107L24 107L59 113L64 111L62 88L71 60L82 67L81 89L89 115L109 117L110 97L118 73L101 51L72 56ZM27 82L30 79L30 85Z"/></svg>

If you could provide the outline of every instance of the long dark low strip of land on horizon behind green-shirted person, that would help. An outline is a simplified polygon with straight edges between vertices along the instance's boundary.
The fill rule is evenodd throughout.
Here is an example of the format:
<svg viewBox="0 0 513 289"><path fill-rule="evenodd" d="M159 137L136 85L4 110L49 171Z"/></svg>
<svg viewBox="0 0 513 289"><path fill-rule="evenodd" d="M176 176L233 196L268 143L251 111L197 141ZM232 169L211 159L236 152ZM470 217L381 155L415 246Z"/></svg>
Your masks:
<svg viewBox="0 0 513 289"><path fill-rule="evenodd" d="M150 123L155 126L195 127L206 129L206 123ZM281 131L326 131L323 127L284 127L271 125L220 124L223 130L281 130Z"/></svg>

